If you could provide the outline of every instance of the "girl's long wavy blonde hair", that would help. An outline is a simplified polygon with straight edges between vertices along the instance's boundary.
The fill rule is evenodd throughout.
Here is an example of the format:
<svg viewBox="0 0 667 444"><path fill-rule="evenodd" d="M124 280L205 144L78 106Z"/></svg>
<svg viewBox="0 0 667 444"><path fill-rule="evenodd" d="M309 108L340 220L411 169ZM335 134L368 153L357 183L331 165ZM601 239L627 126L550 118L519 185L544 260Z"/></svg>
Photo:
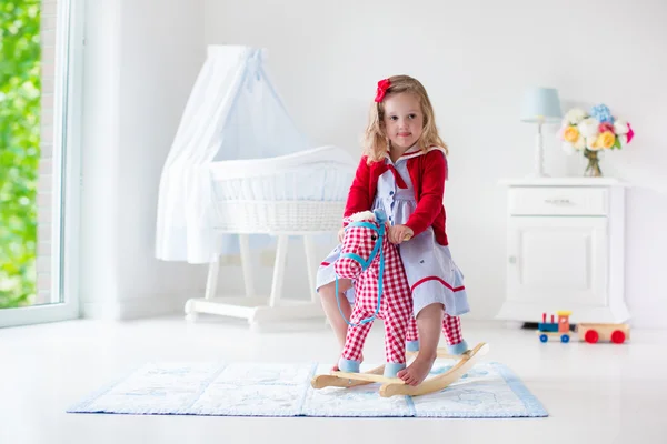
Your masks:
<svg viewBox="0 0 667 444"><path fill-rule="evenodd" d="M424 129L421 137L417 141L417 147L421 151L427 151L430 147L437 145L449 153L447 145L440 139L436 128L436 115L424 85L409 75L392 75L389 79L390 85L386 94L398 94L409 92L417 97L421 104L424 114ZM374 102L370 107L368 117L368 127L364 134L364 154L368 157L368 162L378 162L385 159L389 139L385 134L385 101Z"/></svg>

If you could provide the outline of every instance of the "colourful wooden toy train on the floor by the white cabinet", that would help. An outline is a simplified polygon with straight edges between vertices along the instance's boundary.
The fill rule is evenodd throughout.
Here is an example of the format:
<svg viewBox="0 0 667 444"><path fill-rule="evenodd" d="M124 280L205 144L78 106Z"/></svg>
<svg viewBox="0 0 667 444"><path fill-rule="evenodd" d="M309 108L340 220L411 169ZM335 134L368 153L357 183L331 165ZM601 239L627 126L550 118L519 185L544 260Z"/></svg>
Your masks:
<svg viewBox="0 0 667 444"><path fill-rule="evenodd" d="M564 343L569 342L571 337L569 316L573 313L559 311L556 314L558 315L558 322L554 322L552 314L551 322L547 322L547 313L542 313L542 322L537 324L541 342L549 341L549 336L559 337L560 342ZM630 339L630 327L627 324L580 323L577 324L576 332L579 341L586 341L589 344L595 344L599 341L623 344Z"/></svg>

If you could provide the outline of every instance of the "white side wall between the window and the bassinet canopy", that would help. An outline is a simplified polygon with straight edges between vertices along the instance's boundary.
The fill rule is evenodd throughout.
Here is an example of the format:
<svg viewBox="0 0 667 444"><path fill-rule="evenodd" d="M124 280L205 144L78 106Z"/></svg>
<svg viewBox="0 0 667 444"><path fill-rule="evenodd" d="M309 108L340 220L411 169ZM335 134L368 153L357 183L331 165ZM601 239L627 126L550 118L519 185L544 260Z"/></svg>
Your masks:
<svg viewBox="0 0 667 444"><path fill-rule="evenodd" d="M81 293L87 316L182 310L205 270L155 259L162 164L206 57L199 0L88 2Z"/></svg>

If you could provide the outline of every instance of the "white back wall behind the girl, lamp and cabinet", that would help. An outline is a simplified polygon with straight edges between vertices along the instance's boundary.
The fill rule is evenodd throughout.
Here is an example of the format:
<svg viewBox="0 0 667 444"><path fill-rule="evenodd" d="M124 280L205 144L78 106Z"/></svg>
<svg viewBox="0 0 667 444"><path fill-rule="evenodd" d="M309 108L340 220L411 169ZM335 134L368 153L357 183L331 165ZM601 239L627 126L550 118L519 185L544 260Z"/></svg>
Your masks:
<svg viewBox="0 0 667 444"><path fill-rule="evenodd" d="M505 194L497 183L531 169L535 129L518 121L524 88L558 88L564 110L605 102L629 119L637 133L630 148L609 153L601 165L606 175L635 185L628 196L628 304L635 324L667 325L661 279L667 265L667 3L205 0L203 17L206 43L268 49L277 88L317 143L357 150L379 79L408 73L425 83L451 151L448 232L466 273L471 317L494 316L502 299ZM142 67L133 71L146 75ZM142 135L168 140L166 132ZM567 159L554 134L555 129L546 134L548 172L579 175L584 163ZM130 183L139 184L141 165L161 159L147 155L137 170L131 168ZM135 202L136 209L153 196L151 189ZM142 216L149 213L152 208ZM132 218L138 222L140 216ZM140 226L133 239L145 248L143 236L152 239L152 233L148 222ZM301 289L301 276L292 275L289 285Z"/></svg>

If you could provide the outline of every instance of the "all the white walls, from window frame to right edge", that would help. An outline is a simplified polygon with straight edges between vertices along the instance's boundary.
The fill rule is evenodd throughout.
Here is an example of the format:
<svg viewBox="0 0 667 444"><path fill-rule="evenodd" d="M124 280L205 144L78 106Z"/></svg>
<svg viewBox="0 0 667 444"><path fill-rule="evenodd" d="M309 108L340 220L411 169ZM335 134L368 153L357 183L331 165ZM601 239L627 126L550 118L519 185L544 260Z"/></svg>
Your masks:
<svg viewBox="0 0 667 444"><path fill-rule="evenodd" d="M605 102L627 117L631 148L603 161L635 185L628 198L627 299L639 325L665 325L667 6L613 1L108 0L87 4L82 282L90 316L182 310L205 286L202 266L155 260L159 174L208 43L269 50L269 69L295 120L316 143L355 152L380 78L427 87L451 149L446 191L452 252L472 317L491 317L505 286L501 178L531 168L534 129L518 122L530 84L560 90L564 109ZM158 13L159 11L159 13ZM550 129L547 135L554 135ZM579 174L547 137L552 175ZM484 164L482 164L484 162ZM296 244L293 246L297 246ZM326 251L326 248L320 248ZM306 296L302 254L288 293ZM237 270L227 270L238 275ZM268 289L261 271L260 290ZM230 274L226 274L229 276ZM270 275L270 274L268 274ZM238 279L222 291L240 289Z"/></svg>

